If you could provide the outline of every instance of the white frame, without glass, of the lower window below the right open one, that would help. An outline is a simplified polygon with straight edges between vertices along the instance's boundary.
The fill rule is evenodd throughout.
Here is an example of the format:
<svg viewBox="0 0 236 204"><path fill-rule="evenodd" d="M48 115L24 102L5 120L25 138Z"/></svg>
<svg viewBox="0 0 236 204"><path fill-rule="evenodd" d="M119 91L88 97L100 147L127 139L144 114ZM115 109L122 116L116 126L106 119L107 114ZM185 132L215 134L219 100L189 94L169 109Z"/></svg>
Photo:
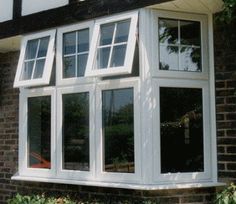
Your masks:
<svg viewBox="0 0 236 204"><path fill-rule="evenodd" d="M116 89L133 89L134 96L134 173L113 173L103 171L103 127L102 127L102 91ZM140 136L140 87L138 79L120 79L104 81L97 85L96 89L96 144L97 144L97 169L96 175L99 181L137 183L141 182L141 136Z"/></svg>

